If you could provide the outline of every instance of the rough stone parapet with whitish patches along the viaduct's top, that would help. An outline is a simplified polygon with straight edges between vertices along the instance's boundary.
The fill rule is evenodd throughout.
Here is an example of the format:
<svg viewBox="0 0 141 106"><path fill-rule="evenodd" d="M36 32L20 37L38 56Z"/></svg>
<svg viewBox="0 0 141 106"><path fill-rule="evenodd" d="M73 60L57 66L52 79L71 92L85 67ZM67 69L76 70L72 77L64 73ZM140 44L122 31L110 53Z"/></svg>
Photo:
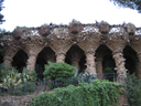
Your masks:
<svg viewBox="0 0 141 106"><path fill-rule="evenodd" d="M79 26L79 25L78 25ZM141 35L141 28L135 28L133 24L127 25L96 25L96 24L82 24L83 29L79 30L76 35L79 33L100 33L100 34L112 34L112 35ZM106 32L106 33L102 33ZM74 34L69 32L69 25L46 25L40 28L28 28L28 29L20 29L14 30L12 33L6 33L1 40L13 40L13 39L24 39L33 35L37 36L47 36L52 34Z"/></svg>

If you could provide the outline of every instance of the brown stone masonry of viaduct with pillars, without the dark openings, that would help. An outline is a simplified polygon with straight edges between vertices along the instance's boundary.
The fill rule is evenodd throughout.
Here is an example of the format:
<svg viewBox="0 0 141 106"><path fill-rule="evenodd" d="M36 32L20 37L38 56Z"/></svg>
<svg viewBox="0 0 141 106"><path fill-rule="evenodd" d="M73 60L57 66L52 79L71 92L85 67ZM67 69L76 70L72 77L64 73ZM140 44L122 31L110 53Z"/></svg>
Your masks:
<svg viewBox="0 0 141 106"><path fill-rule="evenodd" d="M107 22L100 22L98 25L95 25L76 22L70 23L68 26L42 25L40 28L15 29L13 33L7 33L0 44L3 47L3 62L8 66L11 65L13 56L18 51L23 50L28 54L26 68L31 71L35 68L37 55L44 47L50 47L54 51L55 55L53 57L56 57L56 62L65 62L69 49L73 45L77 45L83 51L83 55L86 56L86 71L95 75L102 72L102 67L97 70L97 65L101 64L97 61L99 59L97 57L97 49L106 45L112 53L119 77L120 75L126 77L127 73L123 49L131 46L138 54L137 73L139 73L138 77L141 77L141 70L139 68L141 60L141 29L135 28L131 23L127 25L109 25ZM104 50L100 51L102 52ZM75 59L76 55L73 52L70 53L70 55L74 55L72 57ZM78 53L78 55L82 55L82 53ZM102 60L102 57L100 59ZM78 65L80 57L77 57L77 63L72 61L72 64Z"/></svg>

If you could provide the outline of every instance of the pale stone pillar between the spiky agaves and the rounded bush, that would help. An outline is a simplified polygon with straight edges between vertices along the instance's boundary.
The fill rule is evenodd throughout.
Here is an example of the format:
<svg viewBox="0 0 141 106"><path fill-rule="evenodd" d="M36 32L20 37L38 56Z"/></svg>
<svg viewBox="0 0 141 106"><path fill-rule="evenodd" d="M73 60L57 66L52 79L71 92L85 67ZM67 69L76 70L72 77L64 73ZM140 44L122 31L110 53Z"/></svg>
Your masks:
<svg viewBox="0 0 141 106"><path fill-rule="evenodd" d="M28 55L29 55L29 60L26 63L26 68L30 71L33 71L35 70L35 62L36 62L37 54L33 51L30 51Z"/></svg>

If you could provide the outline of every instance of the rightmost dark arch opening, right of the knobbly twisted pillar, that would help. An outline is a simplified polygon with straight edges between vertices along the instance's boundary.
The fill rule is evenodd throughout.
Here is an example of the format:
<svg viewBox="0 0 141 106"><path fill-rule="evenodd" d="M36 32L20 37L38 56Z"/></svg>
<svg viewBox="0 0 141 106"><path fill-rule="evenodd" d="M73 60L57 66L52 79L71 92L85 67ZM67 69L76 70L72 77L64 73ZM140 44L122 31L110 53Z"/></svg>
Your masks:
<svg viewBox="0 0 141 106"><path fill-rule="evenodd" d="M127 45L124 49L123 49L123 56L126 59L126 68L128 70L128 72L130 74L133 74L135 73L137 74L137 64L139 62L138 57L137 57L137 52L130 46L130 45Z"/></svg>

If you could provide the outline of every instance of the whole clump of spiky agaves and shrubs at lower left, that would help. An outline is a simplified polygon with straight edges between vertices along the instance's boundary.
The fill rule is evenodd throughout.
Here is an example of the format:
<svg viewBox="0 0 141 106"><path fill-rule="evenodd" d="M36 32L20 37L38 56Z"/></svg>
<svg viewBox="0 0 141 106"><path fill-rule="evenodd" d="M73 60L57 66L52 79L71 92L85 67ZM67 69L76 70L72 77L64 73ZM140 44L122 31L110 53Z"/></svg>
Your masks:
<svg viewBox="0 0 141 106"><path fill-rule="evenodd" d="M33 92L35 89L36 81L35 71L29 71L23 68L22 73L19 73L14 67L6 68L4 65L0 66L0 93L4 93L7 89L11 94L22 95L24 92Z"/></svg>

